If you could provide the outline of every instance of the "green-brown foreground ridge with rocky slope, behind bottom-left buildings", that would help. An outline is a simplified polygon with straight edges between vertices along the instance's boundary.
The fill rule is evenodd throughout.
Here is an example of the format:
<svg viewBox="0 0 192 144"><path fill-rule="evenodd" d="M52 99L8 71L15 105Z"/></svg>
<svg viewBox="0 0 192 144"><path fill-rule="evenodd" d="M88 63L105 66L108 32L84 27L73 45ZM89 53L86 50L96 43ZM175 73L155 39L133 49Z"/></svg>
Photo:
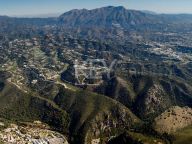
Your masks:
<svg viewBox="0 0 192 144"><path fill-rule="evenodd" d="M40 120L68 136L70 143L91 143L100 137L108 141L114 132L120 134L125 128L142 124L128 108L103 95L57 84L49 90L38 87L41 91L24 91L8 82L9 77L0 71L0 118L12 122Z"/></svg>

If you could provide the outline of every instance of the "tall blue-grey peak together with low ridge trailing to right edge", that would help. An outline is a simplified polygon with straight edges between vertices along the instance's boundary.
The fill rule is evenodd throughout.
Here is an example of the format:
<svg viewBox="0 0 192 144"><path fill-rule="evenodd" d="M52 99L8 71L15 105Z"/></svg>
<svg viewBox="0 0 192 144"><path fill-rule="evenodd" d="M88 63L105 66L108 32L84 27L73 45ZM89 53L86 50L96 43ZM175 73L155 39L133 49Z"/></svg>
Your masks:
<svg viewBox="0 0 192 144"><path fill-rule="evenodd" d="M71 10L59 17L60 24L66 27L123 27L138 25L165 25L174 23L192 23L190 14L156 14L146 11L128 10L122 6L103 7L93 10Z"/></svg>

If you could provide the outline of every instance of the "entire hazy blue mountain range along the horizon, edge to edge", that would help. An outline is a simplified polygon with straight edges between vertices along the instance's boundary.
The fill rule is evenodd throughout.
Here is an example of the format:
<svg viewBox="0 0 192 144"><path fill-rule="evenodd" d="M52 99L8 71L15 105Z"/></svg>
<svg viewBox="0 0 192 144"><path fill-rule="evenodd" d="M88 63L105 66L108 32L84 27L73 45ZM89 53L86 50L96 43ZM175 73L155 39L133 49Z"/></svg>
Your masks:
<svg viewBox="0 0 192 144"><path fill-rule="evenodd" d="M146 29L167 29L180 28L183 24L192 24L192 15L190 14L156 14L149 11L128 10L122 6L102 7L93 10L74 9L53 18L15 18L0 16L0 25L12 29L14 26L47 26L59 25L67 29L79 29L74 33L99 33L103 30L146 30ZM47 16L43 16L47 17ZM173 25L174 24L174 25ZM182 26L181 26L182 24ZM179 26L175 26L179 25ZM107 29L106 29L107 28ZM71 33L71 29L70 29ZM106 32L105 32L106 33ZM115 32L119 33L119 32Z"/></svg>

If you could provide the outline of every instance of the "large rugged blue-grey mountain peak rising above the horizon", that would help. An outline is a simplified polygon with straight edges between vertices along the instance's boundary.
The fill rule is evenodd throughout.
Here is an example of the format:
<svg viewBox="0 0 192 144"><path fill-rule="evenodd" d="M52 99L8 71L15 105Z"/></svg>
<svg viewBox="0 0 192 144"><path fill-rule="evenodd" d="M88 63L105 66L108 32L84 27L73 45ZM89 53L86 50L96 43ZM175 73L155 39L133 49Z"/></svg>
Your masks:
<svg viewBox="0 0 192 144"><path fill-rule="evenodd" d="M154 15L127 10L122 6L108 6L93 10L72 10L61 15L59 21L69 27L111 27L120 25L126 28L136 24L162 23L162 20Z"/></svg>

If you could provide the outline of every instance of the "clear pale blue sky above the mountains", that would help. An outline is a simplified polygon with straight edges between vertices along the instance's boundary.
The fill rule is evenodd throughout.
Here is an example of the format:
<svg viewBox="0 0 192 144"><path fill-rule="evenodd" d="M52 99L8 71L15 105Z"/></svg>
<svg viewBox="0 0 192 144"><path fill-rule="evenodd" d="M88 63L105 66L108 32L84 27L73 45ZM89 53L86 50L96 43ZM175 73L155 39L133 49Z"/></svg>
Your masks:
<svg viewBox="0 0 192 144"><path fill-rule="evenodd" d="M37 16L61 14L71 9L124 6L158 13L191 13L192 0L0 0L0 15Z"/></svg>

